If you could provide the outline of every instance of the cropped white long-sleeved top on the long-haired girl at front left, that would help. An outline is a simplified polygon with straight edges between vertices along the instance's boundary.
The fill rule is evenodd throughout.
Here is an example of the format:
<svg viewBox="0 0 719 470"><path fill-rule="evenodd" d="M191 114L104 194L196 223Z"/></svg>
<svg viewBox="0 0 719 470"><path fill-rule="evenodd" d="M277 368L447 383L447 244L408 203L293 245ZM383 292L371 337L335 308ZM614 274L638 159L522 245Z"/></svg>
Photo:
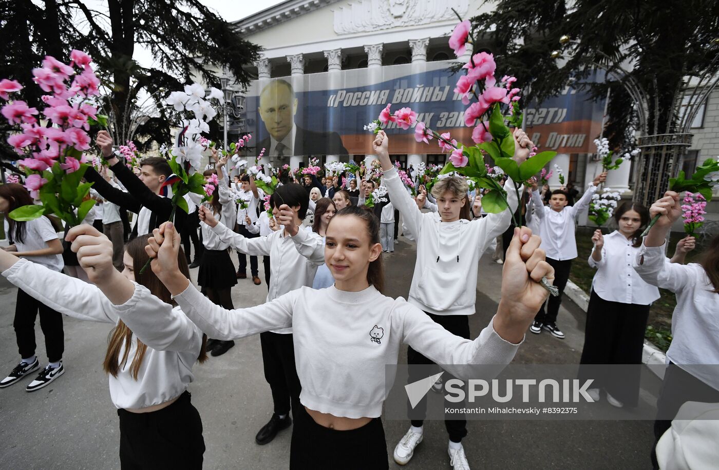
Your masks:
<svg viewBox="0 0 719 470"><path fill-rule="evenodd" d="M135 284L132 298L113 305L95 285L21 259L2 273L17 287L48 307L80 320L116 325L122 320L132 331L127 364L117 377L109 375L110 398L118 408L145 408L172 400L195 378L192 367L200 355L202 331L179 307L162 302ZM154 299L152 312L145 301ZM130 374L137 340L147 345L135 380ZM124 344L119 359L124 357Z"/></svg>

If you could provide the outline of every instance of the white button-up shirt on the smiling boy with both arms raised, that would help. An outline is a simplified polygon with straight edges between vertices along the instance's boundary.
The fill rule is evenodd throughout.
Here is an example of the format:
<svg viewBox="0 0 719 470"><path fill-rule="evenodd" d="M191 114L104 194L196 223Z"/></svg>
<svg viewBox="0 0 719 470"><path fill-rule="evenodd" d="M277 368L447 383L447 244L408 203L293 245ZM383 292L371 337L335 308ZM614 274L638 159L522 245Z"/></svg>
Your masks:
<svg viewBox="0 0 719 470"><path fill-rule="evenodd" d="M579 201L574 206L565 206L562 211L554 211L544 206L541 201L539 190L532 192L532 205L534 215L539 219L540 232L542 234L541 248L546 252L546 257L564 261L577 257L577 240L574 239L574 221L580 212L589 207L592 195L597 187L590 183Z"/></svg>

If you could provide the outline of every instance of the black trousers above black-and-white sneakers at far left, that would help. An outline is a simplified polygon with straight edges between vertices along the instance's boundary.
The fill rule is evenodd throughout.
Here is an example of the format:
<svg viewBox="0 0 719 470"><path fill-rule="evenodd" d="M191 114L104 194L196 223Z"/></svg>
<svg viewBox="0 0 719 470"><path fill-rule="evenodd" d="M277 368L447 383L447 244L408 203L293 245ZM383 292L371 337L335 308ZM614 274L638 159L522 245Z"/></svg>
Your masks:
<svg viewBox="0 0 719 470"><path fill-rule="evenodd" d="M65 352L65 332L63 331L63 315L35 298L30 297L22 289L17 290L15 303L15 328L17 349L20 357L35 356L35 318L40 312L40 328L45 335L45 352L47 360L57 362L63 359Z"/></svg>

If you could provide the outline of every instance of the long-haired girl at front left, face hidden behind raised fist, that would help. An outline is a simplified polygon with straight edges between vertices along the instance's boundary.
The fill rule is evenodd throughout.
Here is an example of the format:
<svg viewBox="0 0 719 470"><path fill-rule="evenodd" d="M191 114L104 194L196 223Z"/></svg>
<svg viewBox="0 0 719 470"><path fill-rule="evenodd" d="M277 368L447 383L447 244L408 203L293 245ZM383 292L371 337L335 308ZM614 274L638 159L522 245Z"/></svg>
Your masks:
<svg viewBox="0 0 719 470"><path fill-rule="evenodd" d="M118 409L123 469L201 469L202 421L187 387L193 365L206 358L206 336L173 306L170 292L150 269L139 274L147 262L148 236L127 244L120 273L106 236L88 225L70 229L67 240L94 285L7 252L0 252L0 270L60 313L114 325L103 369ZM178 274L190 277L183 252L176 256ZM133 295L135 286L152 298L152 315L145 313L145 300Z"/></svg>

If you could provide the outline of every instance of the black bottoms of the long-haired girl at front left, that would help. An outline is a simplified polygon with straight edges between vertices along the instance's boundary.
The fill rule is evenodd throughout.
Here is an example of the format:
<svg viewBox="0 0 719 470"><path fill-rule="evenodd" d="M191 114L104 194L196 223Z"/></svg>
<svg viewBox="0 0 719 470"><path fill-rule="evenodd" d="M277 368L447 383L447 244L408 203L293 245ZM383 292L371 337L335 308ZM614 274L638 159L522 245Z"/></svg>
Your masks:
<svg viewBox="0 0 719 470"><path fill-rule="evenodd" d="M152 413L117 410L122 470L202 469L202 419L187 390Z"/></svg>

